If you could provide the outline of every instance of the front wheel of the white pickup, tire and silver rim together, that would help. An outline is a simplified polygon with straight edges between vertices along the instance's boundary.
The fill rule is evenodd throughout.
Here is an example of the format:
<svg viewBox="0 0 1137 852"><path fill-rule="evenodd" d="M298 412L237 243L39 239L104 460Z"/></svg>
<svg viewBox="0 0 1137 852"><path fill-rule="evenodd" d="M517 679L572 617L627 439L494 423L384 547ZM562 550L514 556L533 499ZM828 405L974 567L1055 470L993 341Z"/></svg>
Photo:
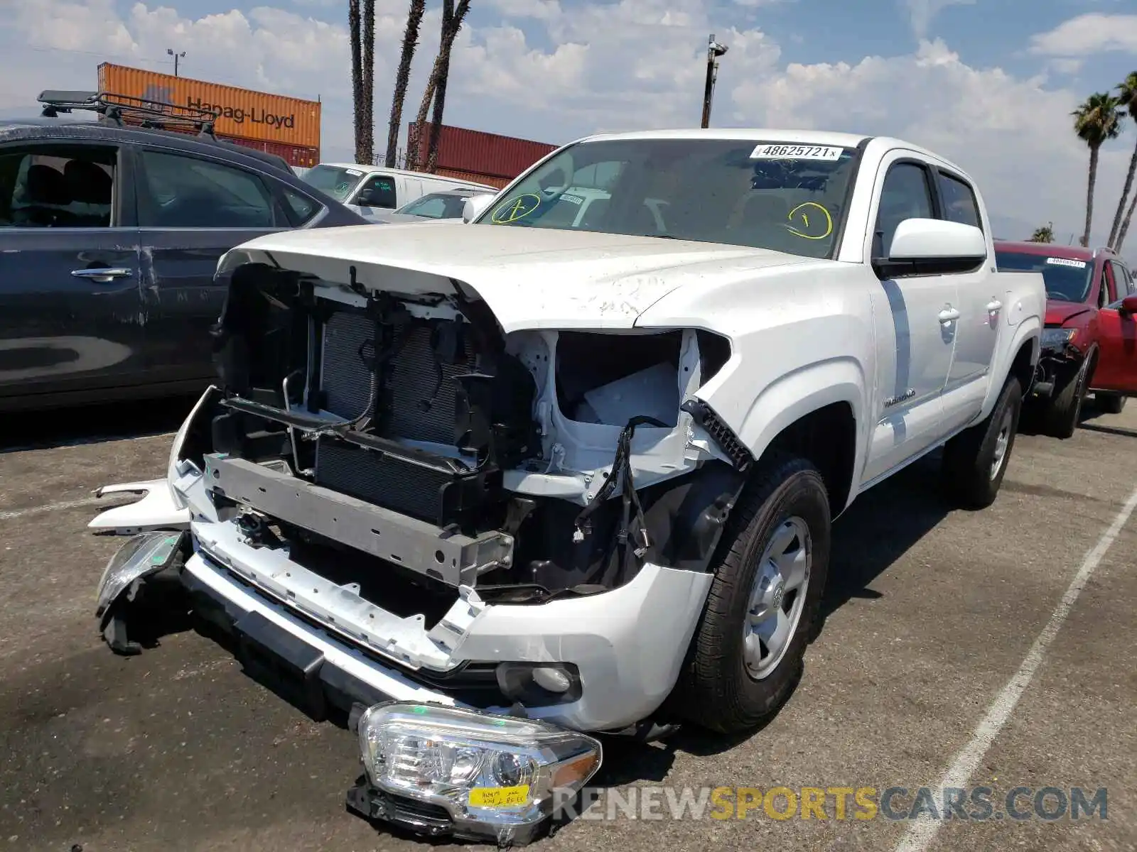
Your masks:
<svg viewBox="0 0 1137 852"><path fill-rule="evenodd" d="M800 677L829 573L829 495L805 459L765 463L731 513L675 687L679 712L721 733L756 727Z"/></svg>

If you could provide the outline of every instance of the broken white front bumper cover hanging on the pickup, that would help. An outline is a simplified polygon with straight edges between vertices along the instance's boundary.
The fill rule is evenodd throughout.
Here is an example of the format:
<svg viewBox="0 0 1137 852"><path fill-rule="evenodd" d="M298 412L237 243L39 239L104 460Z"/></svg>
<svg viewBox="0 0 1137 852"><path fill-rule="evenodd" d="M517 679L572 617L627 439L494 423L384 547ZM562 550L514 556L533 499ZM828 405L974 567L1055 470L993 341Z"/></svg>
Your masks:
<svg viewBox="0 0 1137 852"><path fill-rule="evenodd" d="M194 593L194 610L216 613L219 604L222 621L239 630L242 619L255 616L256 621L243 624L267 623L280 644L299 642L313 649L305 667L309 682L323 677L319 673L326 667L337 685L343 680L340 673L362 685L347 691L348 703L331 696L332 704L347 710L356 700L352 695L370 700L379 694L511 712L515 708L496 691L492 674L489 692L476 688L464 674L478 668L491 671L501 662L568 663L579 675L579 696L567 703L526 704L526 716L573 730L623 730L648 719L674 686L712 579L647 565L611 592L534 605L481 603L465 621L458 616L468 615L470 607L459 598L432 630L421 618L384 613L390 632L382 643L364 644L329 624L326 611L300 611L283 602L296 600L290 596L292 583L318 582L310 571L280 554L274 565L266 565L265 549L225 535L230 524L201 526L200 536L194 536L198 552L183 570L183 582ZM202 541L208 552L200 546ZM355 598L350 590L333 588ZM331 590L322 591L326 596ZM374 608L363 599L358 602ZM429 644L442 654L433 666L399 661L400 646L410 655Z"/></svg>

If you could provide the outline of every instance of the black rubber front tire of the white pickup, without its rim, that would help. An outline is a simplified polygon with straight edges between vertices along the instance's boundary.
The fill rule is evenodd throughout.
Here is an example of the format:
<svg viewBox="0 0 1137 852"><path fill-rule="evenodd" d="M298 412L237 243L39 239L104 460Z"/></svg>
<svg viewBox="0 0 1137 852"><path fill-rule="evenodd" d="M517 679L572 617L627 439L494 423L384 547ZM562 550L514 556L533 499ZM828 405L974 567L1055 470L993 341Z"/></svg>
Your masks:
<svg viewBox="0 0 1137 852"><path fill-rule="evenodd" d="M750 594L767 544L790 518L804 523L812 551L804 603L780 661L756 679L747 669L744 641ZM794 541L800 542L800 536ZM714 582L672 693L678 715L729 734L757 727L778 711L802 676L829 573L829 495L821 474L792 456L765 460L739 498L720 543ZM779 593L774 605L794 610L796 598Z"/></svg>

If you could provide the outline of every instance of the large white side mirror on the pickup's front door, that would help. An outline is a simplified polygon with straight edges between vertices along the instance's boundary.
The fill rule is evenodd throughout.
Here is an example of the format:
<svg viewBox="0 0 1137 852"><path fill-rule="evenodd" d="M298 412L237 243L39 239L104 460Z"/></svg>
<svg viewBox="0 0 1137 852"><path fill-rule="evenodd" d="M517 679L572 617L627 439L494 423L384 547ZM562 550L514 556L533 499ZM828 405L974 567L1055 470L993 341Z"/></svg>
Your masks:
<svg viewBox="0 0 1137 852"><path fill-rule="evenodd" d="M904 219L896 226L888 257L873 259L881 277L946 275L979 268L987 240L973 225L944 219Z"/></svg>

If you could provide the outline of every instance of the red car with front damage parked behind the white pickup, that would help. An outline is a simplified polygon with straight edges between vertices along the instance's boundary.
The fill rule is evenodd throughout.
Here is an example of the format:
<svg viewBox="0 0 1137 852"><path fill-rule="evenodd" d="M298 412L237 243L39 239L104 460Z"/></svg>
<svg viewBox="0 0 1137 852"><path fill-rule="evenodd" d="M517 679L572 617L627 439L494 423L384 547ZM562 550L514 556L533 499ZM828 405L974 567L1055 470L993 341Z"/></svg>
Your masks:
<svg viewBox="0 0 1137 852"><path fill-rule="evenodd" d="M1005 272L1037 272L1046 279L1046 328L1031 402L1046 431L1070 437L1081 403L1121 411L1137 396L1137 281L1109 249L1053 243L995 242Z"/></svg>

